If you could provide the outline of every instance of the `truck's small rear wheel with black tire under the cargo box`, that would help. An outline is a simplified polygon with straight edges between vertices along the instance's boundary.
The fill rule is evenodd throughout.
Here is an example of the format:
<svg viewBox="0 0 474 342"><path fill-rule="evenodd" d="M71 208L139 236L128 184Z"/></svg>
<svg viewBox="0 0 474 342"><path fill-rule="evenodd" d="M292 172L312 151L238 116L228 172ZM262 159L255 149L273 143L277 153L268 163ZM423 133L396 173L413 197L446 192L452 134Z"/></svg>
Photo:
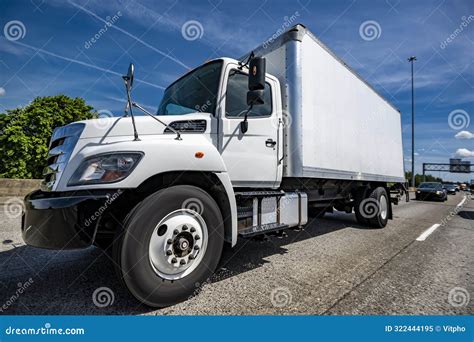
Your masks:
<svg viewBox="0 0 474 342"><path fill-rule="evenodd" d="M382 206L383 201L385 201L384 208ZM385 188L378 187L373 190L364 204L361 210L365 212L364 216L367 218L369 226L374 228L385 227L390 214L390 198Z"/></svg>

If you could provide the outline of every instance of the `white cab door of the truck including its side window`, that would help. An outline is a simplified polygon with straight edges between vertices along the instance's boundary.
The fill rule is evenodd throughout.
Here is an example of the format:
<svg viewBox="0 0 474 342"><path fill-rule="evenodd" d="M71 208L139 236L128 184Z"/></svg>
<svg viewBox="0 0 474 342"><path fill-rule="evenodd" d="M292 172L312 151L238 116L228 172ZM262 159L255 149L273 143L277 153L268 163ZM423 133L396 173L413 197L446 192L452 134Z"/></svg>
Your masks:
<svg viewBox="0 0 474 342"><path fill-rule="evenodd" d="M276 188L281 181L281 101L276 78L266 77L264 104L248 113L248 131L240 123L248 110L248 73L228 64L219 101L219 149L234 187Z"/></svg>

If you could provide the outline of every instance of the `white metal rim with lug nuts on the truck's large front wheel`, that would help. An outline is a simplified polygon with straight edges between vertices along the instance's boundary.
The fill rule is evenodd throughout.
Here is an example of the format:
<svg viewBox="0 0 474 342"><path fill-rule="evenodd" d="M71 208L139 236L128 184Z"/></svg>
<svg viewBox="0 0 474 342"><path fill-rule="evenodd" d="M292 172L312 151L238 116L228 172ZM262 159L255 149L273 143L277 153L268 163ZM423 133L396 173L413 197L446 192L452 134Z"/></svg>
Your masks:
<svg viewBox="0 0 474 342"><path fill-rule="evenodd" d="M151 267L163 279L184 278L201 263L207 242L207 226L200 214L189 209L173 211L156 225L151 235Z"/></svg>

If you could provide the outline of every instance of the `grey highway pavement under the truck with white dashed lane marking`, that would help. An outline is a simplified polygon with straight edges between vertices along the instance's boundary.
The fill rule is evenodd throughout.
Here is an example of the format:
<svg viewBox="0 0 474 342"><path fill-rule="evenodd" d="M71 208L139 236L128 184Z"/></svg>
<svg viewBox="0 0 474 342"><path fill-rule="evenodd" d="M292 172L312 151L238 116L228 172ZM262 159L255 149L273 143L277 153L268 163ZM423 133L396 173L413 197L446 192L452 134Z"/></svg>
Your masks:
<svg viewBox="0 0 474 342"><path fill-rule="evenodd" d="M138 303L97 248L25 246L20 218L4 209L0 314L474 314L474 200L457 194L394 208L384 229L335 213L286 237L242 240L195 295L160 310Z"/></svg>

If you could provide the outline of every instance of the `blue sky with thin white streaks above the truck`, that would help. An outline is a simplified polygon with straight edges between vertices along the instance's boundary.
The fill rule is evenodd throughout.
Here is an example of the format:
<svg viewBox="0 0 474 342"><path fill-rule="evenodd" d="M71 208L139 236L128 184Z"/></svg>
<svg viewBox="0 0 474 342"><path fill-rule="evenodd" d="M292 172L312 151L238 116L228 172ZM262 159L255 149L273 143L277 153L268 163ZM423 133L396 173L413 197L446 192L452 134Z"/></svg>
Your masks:
<svg viewBox="0 0 474 342"><path fill-rule="evenodd" d="M474 1L1 0L0 13L0 111L64 93L120 115L131 61L134 99L155 110L188 68L239 57L293 16L401 110L407 168L416 55L416 172L456 155L474 163Z"/></svg>

